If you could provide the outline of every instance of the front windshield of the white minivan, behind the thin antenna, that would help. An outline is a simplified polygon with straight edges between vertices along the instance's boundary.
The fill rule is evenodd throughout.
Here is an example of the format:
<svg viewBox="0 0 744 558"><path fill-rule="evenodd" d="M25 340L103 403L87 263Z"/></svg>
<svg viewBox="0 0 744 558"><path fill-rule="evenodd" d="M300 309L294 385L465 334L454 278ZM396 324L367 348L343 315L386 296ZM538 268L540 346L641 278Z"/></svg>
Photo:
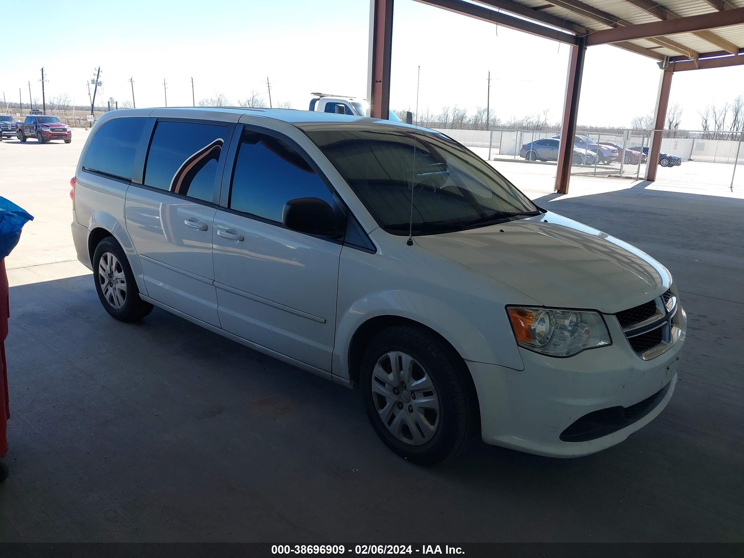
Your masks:
<svg viewBox="0 0 744 558"><path fill-rule="evenodd" d="M437 234L542 213L490 164L438 132L357 123L303 130L391 234L408 235L409 220L412 234Z"/></svg>

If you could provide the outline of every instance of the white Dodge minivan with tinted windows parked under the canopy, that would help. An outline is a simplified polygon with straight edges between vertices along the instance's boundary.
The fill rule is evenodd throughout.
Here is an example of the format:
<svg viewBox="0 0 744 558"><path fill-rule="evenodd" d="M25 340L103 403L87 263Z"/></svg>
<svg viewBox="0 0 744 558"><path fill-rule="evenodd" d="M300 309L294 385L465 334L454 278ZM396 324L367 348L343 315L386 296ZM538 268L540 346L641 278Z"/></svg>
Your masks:
<svg viewBox="0 0 744 558"><path fill-rule="evenodd" d="M153 305L350 388L394 452L606 449L669 403L687 319L644 252L440 132L282 109L94 125L72 235L103 307Z"/></svg>

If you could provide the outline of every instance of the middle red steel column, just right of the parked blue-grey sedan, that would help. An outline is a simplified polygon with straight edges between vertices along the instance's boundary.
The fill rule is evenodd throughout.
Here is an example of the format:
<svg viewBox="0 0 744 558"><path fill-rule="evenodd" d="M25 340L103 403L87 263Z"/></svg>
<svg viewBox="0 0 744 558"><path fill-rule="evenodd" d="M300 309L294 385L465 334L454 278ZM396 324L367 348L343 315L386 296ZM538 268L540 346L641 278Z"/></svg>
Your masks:
<svg viewBox="0 0 744 558"><path fill-rule="evenodd" d="M586 57L584 41L585 39L581 38L578 45L571 45L571 60L568 62L568 77L565 80L565 100L563 101L563 122L558 150L558 170L556 173L556 191L558 193L568 193L568 180L571 177L576 117L579 112L579 93L584 72L584 58Z"/></svg>

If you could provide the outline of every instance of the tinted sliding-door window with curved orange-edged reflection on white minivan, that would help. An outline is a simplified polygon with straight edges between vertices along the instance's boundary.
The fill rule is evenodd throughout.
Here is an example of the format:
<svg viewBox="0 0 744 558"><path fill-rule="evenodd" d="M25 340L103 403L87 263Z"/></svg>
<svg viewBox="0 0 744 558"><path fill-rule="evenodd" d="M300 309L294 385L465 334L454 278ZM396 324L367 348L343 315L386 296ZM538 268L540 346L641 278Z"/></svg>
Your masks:
<svg viewBox="0 0 744 558"><path fill-rule="evenodd" d="M144 184L211 202L226 126L160 121L147 153Z"/></svg>

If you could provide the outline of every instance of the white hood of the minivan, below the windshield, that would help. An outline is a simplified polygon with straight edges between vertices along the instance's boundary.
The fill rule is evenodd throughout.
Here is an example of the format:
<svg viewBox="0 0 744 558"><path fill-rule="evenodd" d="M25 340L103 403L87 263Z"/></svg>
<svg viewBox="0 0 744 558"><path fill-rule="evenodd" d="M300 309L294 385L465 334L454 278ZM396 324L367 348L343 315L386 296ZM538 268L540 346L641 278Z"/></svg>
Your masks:
<svg viewBox="0 0 744 558"><path fill-rule="evenodd" d="M638 248L551 212L415 240L547 307L612 314L661 295L672 280Z"/></svg>

